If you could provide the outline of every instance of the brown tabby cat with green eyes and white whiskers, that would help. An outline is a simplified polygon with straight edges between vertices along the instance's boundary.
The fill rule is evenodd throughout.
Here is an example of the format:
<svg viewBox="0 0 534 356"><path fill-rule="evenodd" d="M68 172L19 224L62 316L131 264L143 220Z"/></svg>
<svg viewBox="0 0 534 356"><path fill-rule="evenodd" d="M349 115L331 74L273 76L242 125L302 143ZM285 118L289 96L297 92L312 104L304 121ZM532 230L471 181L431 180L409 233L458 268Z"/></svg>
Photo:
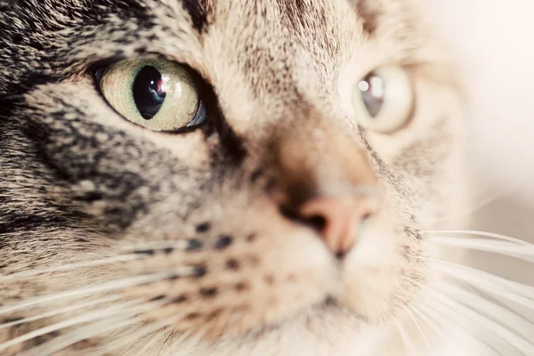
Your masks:
<svg viewBox="0 0 534 356"><path fill-rule="evenodd" d="M533 354L461 77L417 0L0 2L0 353Z"/></svg>

